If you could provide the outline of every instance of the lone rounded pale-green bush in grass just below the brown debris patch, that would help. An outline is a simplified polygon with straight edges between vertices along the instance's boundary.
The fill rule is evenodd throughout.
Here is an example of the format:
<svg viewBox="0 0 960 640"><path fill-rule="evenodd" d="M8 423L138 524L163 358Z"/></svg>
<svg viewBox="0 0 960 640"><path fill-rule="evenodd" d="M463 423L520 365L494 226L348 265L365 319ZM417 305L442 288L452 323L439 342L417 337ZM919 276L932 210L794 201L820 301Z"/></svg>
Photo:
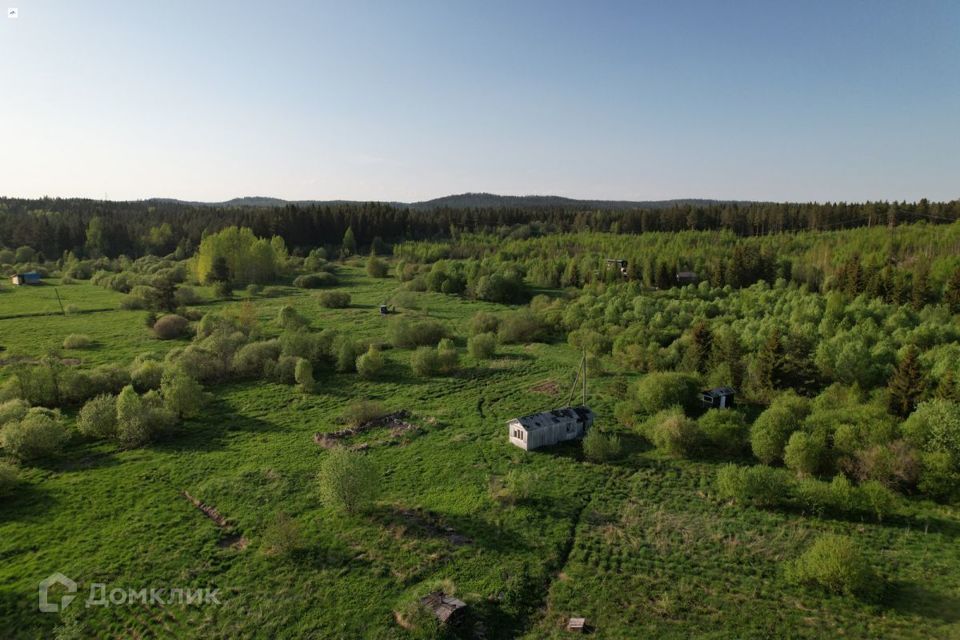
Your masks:
<svg viewBox="0 0 960 640"><path fill-rule="evenodd" d="M317 475L321 499L347 513L365 511L380 487L380 474L373 462L356 451L331 449Z"/></svg>

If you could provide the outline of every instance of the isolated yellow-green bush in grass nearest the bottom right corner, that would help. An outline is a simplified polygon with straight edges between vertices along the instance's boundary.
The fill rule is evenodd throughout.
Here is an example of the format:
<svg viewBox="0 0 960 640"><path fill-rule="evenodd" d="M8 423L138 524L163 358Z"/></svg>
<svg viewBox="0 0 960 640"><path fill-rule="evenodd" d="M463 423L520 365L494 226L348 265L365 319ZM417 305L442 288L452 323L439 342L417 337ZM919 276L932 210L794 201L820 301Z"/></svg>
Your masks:
<svg viewBox="0 0 960 640"><path fill-rule="evenodd" d="M826 534L818 538L797 560L787 566L787 577L803 585L821 587L838 594L873 598L879 592L879 577L848 537Z"/></svg>

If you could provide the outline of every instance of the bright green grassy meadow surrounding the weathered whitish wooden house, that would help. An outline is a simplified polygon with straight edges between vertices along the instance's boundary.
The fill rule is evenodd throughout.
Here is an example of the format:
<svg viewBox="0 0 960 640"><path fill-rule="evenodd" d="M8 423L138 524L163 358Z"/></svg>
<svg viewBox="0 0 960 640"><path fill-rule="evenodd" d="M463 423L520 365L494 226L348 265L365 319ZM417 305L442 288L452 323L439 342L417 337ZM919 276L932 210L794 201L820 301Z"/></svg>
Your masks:
<svg viewBox="0 0 960 640"><path fill-rule="evenodd" d="M376 305L393 283L350 271L346 285L354 295L347 310L321 309L302 292L255 304L265 320L291 302L317 328L381 337ZM88 292L91 304L103 296L89 285L63 289L74 288ZM18 291L17 303L32 309L40 301L31 296L46 293ZM11 298L3 295L6 310ZM423 299L430 315L460 335L476 310L494 308L440 295ZM2 320L0 342L40 354L68 333L86 333L100 346L84 352L81 366L172 346L151 340L141 316ZM562 402L530 387L544 379L565 387L577 360L565 345L510 347L482 367L465 359L461 376L436 380L411 376L407 351L389 351L388 358L383 382L328 374L311 396L273 384L219 387L204 418L169 442L129 452L78 444L49 467L27 470L27 487L0 510L0 637L49 636L57 617L36 612L35 590L57 570L87 588L105 582L222 590L221 607L80 610L91 631L107 637L403 637L392 611L436 578L451 578L477 601L487 637L562 637L562 622L573 614L612 638L960 634L955 510L912 506L913 517L877 525L726 506L710 497L714 465L662 459L629 434L629 456L617 465L583 462L576 447L524 454L507 444L504 422ZM612 426L613 399L605 393L611 380L594 385L592 403ZM313 478L324 454L311 435L338 428L344 404L358 397L409 409L426 428L403 446L372 447L369 455L384 470L383 500L371 515L344 518L316 497ZM536 470L540 481L530 500L500 507L489 496L489 478L517 465ZM183 490L215 505L250 547L221 547L223 532L180 496ZM399 510L413 507L473 543L456 546L411 524ZM258 551L277 511L295 517L309 541L287 560ZM854 533L895 577L883 605L785 583L781 561L825 530ZM533 608L504 615L489 597L524 563L534 574Z"/></svg>

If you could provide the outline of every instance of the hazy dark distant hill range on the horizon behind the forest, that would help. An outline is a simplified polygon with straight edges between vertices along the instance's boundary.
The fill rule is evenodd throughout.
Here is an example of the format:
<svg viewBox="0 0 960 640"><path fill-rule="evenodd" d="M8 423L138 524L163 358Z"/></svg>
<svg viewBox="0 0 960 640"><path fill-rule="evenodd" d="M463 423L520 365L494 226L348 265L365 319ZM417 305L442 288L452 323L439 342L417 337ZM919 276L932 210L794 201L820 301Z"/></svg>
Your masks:
<svg viewBox="0 0 960 640"><path fill-rule="evenodd" d="M283 200L267 196L246 196L233 198L224 202L196 202L176 200L174 198L150 198L148 202L171 202L194 206L209 207L284 207L295 205L337 205L357 204L359 200ZM677 205L710 205L720 200L696 198L679 198L675 200L577 200L562 196L501 196L494 193L461 193L443 196L433 200L421 202L386 202L395 207L409 209L431 210L440 208L450 209L590 209L590 210L623 210L623 209L668 209Z"/></svg>

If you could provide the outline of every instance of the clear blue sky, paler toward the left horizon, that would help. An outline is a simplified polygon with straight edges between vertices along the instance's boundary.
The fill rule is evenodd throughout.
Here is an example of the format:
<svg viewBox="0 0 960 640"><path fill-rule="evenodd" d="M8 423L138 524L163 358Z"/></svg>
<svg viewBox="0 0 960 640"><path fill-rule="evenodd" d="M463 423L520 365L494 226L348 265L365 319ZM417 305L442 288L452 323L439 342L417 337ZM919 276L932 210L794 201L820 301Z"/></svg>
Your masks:
<svg viewBox="0 0 960 640"><path fill-rule="evenodd" d="M960 197L960 2L7 0L0 194Z"/></svg>

